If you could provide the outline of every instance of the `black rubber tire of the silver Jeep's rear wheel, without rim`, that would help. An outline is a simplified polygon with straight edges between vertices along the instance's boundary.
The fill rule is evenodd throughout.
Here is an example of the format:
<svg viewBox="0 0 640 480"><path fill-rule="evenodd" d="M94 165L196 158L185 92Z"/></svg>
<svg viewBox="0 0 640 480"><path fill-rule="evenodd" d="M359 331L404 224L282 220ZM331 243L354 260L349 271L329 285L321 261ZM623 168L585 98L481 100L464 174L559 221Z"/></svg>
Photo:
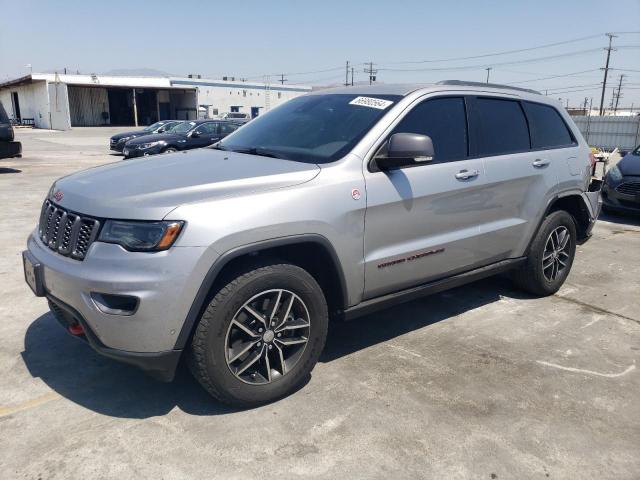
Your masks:
<svg viewBox="0 0 640 480"><path fill-rule="evenodd" d="M566 250L564 250L568 257L562 257L566 265L560 267L560 263L558 263L559 270L556 277L550 279L549 277L553 277L553 275L550 274L549 268L546 270L543 268L543 256L545 256L545 248L547 248L551 233L558 231L557 229L562 229L562 227L569 234ZM573 265L575 253L576 225L573 217L564 210L552 212L540 225L531 243L526 263L513 272L512 278L518 287L533 295L553 295L567 279L571 271L571 265Z"/></svg>

